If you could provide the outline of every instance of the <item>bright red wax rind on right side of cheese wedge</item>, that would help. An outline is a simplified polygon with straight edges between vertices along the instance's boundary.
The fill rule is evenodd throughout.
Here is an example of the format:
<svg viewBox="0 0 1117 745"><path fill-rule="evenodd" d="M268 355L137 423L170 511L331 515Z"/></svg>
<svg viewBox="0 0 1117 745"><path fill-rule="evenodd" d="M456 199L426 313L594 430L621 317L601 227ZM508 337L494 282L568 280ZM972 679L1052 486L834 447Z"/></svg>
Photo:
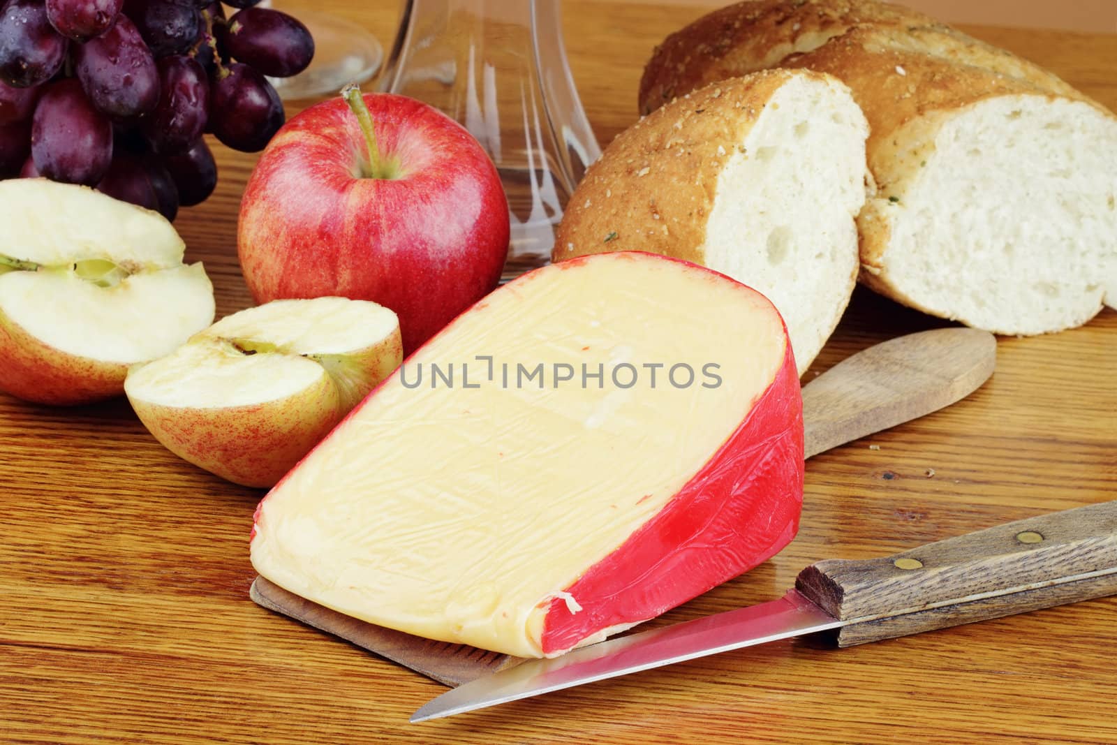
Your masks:
<svg viewBox="0 0 1117 745"><path fill-rule="evenodd" d="M791 345L775 380L698 474L617 551L551 601L545 655L655 618L791 543L803 495L803 400Z"/></svg>

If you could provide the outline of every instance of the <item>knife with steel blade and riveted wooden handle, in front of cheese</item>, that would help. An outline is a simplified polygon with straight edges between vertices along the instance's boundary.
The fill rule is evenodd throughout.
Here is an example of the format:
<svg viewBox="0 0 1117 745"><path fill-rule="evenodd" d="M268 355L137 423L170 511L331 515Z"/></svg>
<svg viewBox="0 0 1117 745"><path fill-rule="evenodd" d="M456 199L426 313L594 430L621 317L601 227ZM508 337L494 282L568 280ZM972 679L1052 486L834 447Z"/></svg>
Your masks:
<svg viewBox="0 0 1117 745"><path fill-rule="evenodd" d="M1117 502L1052 513L868 561L800 572L774 601L536 659L428 701L412 723L651 668L837 630L839 647L1117 594Z"/></svg>

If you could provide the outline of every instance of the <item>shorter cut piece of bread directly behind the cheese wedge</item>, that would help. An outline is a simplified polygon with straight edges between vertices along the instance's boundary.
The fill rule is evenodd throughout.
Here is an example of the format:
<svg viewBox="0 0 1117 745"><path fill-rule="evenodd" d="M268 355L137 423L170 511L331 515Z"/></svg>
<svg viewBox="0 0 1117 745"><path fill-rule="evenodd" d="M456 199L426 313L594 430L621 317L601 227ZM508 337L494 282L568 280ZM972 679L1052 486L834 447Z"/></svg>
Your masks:
<svg viewBox="0 0 1117 745"><path fill-rule="evenodd" d="M827 75L771 70L696 90L605 149L552 258L649 251L728 275L776 306L802 373L856 283L867 136L849 90ZM680 313L718 323L716 307Z"/></svg>

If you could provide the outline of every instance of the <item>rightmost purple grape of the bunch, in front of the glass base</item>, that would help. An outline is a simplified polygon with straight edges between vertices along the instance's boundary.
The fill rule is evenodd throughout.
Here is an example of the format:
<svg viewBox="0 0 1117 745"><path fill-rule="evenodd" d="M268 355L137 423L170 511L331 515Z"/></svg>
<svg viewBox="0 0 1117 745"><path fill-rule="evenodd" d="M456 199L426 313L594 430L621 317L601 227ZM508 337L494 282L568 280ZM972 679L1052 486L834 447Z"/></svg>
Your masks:
<svg viewBox="0 0 1117 745"><path fill-rule="evenodd" d="M290 77L314 57L314 39L298 20L267 8L247 8L229 19L229 54L271 77Z"/></svg>

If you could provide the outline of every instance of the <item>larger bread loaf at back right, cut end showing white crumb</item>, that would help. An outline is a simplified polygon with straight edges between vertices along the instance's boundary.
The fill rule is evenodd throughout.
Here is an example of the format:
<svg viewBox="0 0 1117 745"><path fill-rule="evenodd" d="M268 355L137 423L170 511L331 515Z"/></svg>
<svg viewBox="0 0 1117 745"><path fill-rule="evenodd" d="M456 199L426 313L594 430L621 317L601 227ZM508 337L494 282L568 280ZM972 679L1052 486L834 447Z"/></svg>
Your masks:
<svg viewBox="0 0 1117 745"><path fill-rule="evenodd" d="M1117 306L1117 117L1057 76L871 0L757 0L671 35L643 112L774 66L843 80L869 121L861 280L1003 334Z"/></svg>

